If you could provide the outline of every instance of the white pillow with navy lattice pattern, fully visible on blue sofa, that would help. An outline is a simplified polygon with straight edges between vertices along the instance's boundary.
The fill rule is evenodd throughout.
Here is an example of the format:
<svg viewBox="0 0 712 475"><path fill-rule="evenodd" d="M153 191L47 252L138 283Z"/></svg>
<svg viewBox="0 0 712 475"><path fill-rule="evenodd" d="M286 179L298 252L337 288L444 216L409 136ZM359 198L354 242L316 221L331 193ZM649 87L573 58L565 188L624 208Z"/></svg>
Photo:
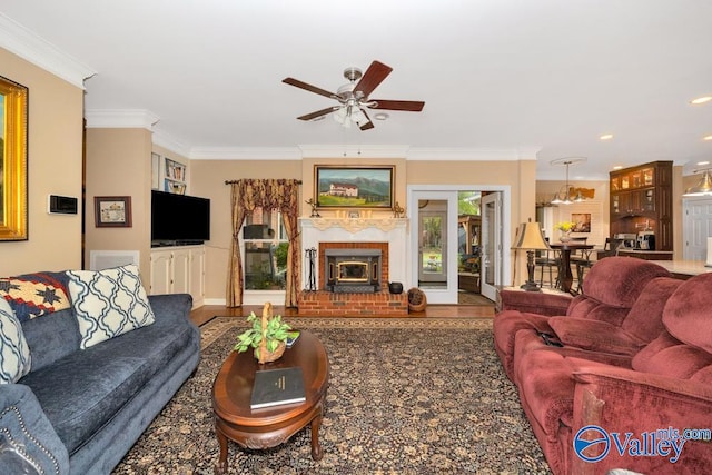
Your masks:
<svg viewBox="0 0 712 475"><path fill-rule="evenodd" d="M82 349L154 323L136 265L67 275Z"/></svg>

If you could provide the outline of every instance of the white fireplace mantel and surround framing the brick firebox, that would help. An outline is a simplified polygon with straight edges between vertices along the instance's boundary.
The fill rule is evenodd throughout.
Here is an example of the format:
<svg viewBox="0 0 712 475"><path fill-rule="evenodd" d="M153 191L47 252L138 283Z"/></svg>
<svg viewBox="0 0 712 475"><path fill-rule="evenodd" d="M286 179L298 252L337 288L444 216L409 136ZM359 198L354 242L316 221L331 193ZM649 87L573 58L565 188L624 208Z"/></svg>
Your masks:
<svg viewBox="0 0 712 475"><path fill-rule="evenodd" d="M303 250L318 249L319 243L388 243L388 280L407 285L407 218L299 218L299 226ZM308 263L303 270L305 288Z"/></svg>

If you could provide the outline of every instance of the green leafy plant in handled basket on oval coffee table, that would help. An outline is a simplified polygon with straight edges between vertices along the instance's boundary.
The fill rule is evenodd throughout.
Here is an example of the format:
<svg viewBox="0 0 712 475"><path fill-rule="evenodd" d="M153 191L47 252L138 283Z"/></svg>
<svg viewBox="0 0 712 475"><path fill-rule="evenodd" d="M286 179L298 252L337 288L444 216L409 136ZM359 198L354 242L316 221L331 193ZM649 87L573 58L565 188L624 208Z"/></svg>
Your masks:
<svg viewBox="0 0 712 475"><path fill-rule="evenodd" d="M273 317L271 304L266 303L261 318L251 311L247 321L253 327L237 336L237 344L233 349L243 353L248 348L255 348L255 358L259 364L279 359L285 353L288 333L291 330L288 324L281 321L281 315Z"/></svg>

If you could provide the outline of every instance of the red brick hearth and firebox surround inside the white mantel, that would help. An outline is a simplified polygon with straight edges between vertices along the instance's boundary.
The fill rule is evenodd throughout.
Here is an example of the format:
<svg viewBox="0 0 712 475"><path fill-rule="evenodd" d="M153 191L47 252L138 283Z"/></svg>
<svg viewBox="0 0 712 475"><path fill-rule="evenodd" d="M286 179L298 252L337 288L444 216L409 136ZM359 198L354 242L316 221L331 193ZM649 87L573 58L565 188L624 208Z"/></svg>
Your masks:
<svg viewBox="0 0 712 475"><path fill-rule="evenodd" d="M374 294L336 294L324 288L326 249L380 249L380 286ZM317 259L317 286L320 290L301 291L299 315L310 316L387 316L408 315L408 295L388 291L388 243L319 243Z"/></svg>

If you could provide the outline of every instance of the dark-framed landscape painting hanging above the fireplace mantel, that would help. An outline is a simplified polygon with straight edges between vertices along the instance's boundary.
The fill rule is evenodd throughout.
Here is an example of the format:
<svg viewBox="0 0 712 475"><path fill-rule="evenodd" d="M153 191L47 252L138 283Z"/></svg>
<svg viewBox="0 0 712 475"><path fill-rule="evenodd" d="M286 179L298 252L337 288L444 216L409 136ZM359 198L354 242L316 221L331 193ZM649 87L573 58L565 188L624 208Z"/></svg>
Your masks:
<svg viewBox="0 0 712 475"><path fill-rule="evenodd" d="M319 208L393 208L394 167L314 166Z"/></svg>

